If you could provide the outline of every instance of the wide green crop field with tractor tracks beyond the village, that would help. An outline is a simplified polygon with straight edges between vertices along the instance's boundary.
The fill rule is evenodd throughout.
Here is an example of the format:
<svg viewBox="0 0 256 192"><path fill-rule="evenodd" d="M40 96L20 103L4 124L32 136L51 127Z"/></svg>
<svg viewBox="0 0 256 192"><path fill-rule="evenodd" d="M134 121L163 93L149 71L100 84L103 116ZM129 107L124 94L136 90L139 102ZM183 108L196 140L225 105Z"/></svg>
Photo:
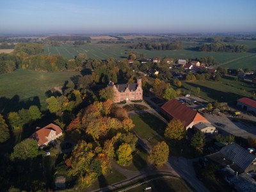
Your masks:
<svg viewBox="0 0 256 192"><path fill-rule="evenodd" d="M135 44L135 43L134 43ZM256 69L256 41L237 40L234 44L245 44L249 52L198 52L187 48L196 47L198 42L182 42L184 49L177 51L148 51L144 49L129 49L128 44L86 44L81 47L74 47L72 44L61 44L60 47L45 46L45 54L58 54L65 58L72 59L79 52L86 53L88 58L99 58L106 60L109 57L116 59L127 58L128 52L136 52L137 57L143 54L145 58L170 57L170 58L202 58L204 56L213 56L215 60L223 67L229 68L250 68Z"/></svg>

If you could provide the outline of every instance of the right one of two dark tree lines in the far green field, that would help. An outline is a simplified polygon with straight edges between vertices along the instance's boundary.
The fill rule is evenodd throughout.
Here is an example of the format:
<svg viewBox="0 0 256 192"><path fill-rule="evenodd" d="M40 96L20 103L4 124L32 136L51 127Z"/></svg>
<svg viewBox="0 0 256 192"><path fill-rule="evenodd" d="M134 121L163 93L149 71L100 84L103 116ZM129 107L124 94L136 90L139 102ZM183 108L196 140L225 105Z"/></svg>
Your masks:
<svg viewBox="0 0 256 192"><path fill-rule="evenodd" d="M214 42L196 47L198 51L214 51L214 52L246 52L246 45L228 45L225 42Z"/></svg>

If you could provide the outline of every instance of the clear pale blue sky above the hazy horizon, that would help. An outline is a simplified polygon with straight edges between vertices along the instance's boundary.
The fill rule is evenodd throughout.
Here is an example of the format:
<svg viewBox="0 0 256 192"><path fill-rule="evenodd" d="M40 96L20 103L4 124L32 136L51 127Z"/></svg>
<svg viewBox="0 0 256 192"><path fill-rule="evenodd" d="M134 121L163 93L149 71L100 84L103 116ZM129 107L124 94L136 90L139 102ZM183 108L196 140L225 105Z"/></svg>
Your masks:
<svg viewBox="0 0 256 192"><path fill-rule="evenodd" d="M1 34L256 32L255 0L1 0Z"/></svg>

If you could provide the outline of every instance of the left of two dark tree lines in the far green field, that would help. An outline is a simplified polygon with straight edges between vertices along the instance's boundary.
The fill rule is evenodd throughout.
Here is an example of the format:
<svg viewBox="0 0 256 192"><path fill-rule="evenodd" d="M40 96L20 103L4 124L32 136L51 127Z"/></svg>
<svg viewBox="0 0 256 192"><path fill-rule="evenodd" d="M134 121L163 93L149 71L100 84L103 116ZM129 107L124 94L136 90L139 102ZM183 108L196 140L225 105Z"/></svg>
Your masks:
<svg viewBox="0 0 256 192"><path fill-rule="evenodd" d="M176 50L182 49L182 42L172 43L154 43L154 42L141 42L129 46L131 49L146 49L146 50Z"/></svg>

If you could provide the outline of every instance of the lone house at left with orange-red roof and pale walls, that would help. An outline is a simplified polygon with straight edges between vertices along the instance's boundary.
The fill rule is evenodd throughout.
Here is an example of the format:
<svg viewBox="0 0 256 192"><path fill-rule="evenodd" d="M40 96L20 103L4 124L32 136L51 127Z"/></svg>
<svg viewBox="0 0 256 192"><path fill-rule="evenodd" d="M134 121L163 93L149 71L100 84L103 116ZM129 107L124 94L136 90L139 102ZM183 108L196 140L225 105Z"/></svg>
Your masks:
<svg viewBox="0 0 256 192"><path fill-rule="evenodd" d="M37 141L38 147L48 145L52 140L62 136L62 130L58 125L49 124L43 128L36 127L37 131L31 135L31 138Z"/></svg>

